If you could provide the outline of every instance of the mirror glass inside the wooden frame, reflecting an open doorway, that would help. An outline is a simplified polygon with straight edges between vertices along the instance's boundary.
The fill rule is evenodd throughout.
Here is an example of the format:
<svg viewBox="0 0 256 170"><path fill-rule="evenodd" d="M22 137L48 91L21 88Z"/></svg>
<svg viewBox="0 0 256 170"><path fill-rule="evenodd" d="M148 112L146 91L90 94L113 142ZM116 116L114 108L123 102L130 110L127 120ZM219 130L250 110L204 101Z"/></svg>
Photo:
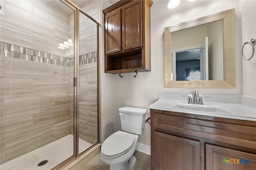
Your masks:
<svg viewBox="0 0 256 170"><path fill-rule="evenodd" d="M171 33L173 81L223 80L223 20ZM189 70L195 70L196 75ZM194 75L191 77L191 75Z"/></svg>

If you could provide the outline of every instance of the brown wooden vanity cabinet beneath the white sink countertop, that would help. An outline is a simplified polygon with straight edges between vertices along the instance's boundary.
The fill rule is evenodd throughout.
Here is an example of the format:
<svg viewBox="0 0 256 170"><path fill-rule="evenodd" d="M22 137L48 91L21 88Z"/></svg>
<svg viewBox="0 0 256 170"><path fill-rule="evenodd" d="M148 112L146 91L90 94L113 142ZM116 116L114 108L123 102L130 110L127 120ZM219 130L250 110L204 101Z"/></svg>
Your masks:
<svg viewBox="0 0 256 170"><path fill-rule="evenodd" d="M150 117L152 170L256 169L254 121L155 109Z"/></svg>

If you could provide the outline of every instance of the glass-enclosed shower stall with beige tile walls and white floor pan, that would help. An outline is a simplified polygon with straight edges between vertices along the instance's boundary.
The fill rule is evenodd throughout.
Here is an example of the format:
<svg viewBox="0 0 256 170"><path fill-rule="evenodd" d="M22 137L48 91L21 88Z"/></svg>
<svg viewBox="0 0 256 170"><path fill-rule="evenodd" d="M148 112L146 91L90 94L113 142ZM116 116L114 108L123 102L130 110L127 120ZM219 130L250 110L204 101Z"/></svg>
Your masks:
<svg viewBox="0 0 256 170"><path fill-rule="evenodd" d="M0 1L1 170L58 168L99 142L100 2L84 2Z"/></svg>

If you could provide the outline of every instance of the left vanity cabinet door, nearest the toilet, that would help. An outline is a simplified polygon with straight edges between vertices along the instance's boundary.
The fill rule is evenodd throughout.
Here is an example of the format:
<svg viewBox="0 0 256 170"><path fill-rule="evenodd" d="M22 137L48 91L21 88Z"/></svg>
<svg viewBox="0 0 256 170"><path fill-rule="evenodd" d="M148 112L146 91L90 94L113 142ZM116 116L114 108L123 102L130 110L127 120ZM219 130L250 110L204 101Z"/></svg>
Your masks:
<svg viewBox="0 0 256 170"><path fill-rule="evenodd" d="M199 170L200 142L154 131L154 167L159 170Z"/></svg>

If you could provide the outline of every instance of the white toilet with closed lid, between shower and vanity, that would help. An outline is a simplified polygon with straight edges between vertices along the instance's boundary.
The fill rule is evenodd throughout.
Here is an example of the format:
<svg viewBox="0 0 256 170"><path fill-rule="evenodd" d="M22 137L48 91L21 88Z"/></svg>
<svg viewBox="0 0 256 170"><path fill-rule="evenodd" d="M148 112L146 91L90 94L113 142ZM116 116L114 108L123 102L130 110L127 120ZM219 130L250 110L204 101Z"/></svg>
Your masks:
<svg viewBox="0 0 256 170"><path fill-rule="evenodd" d="M122 107L118 109L123 131L110 135L101 146L101 158L110 165L110 170L132 170L136 158L133 155L138 136L144 130L144 115L147 109Z"/></svg>

